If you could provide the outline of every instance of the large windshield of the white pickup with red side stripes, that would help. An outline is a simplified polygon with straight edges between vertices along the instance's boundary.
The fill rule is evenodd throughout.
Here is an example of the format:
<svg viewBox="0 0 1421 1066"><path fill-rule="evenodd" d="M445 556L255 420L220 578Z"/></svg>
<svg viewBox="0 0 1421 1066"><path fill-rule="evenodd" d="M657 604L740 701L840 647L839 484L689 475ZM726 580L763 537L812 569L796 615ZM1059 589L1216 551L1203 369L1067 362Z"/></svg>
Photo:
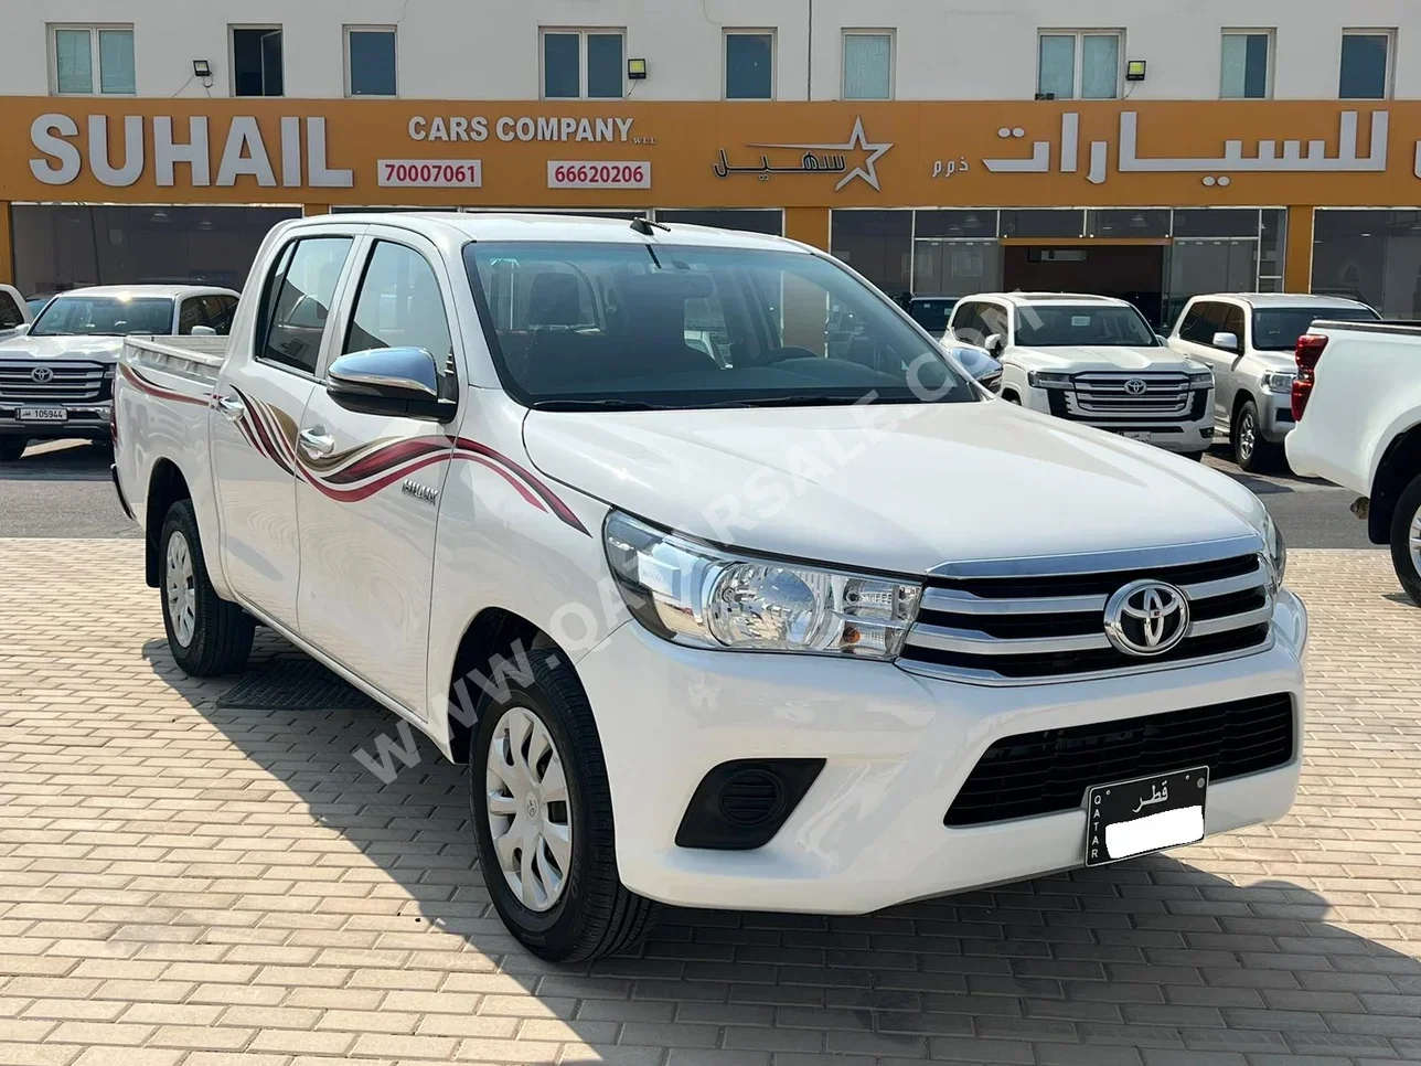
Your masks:
<svg viewBox="0 0 1421 1066"><path fill-rule="evenodd" d="M473 243L465 259L499 377L529 405L978 399L884 296L818 256Z"/></svg>

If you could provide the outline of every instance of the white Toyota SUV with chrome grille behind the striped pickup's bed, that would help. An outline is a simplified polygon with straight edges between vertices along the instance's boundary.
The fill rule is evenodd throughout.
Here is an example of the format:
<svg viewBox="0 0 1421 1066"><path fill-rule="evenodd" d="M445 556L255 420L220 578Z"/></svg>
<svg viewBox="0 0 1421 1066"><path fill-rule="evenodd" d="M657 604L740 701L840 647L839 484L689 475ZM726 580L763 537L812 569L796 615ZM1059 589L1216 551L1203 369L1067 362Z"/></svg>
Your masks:
<svg viewBox="0 0 1421 1066"><path fill-rule="evenodd" d="M107 441L124 337L226 334L237 294L202 286L97 286L51 298L0 340L0 462L40 438Z"/></svg>

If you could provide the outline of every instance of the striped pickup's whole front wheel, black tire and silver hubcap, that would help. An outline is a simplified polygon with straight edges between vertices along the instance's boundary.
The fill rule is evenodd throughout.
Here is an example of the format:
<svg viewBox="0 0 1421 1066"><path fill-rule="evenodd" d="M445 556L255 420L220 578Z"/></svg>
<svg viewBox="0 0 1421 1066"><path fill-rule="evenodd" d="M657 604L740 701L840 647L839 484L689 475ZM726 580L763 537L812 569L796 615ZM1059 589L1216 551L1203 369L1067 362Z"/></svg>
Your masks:
<svg viewBox="0 0 1421 1066"><path fill-rule="evenodd" d="M560 652L516 661L507 698L485 692L469 752L483 881L503 924L550 962L631 947L654 904L617 876L611 789L593 709Z"/></svg>

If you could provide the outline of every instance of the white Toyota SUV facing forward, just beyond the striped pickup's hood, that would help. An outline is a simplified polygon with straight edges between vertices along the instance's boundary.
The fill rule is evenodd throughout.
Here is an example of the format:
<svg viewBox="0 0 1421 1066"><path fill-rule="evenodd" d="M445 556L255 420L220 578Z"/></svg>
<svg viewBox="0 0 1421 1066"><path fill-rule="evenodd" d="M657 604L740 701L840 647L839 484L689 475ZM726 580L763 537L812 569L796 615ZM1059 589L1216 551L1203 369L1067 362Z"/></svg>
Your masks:
<svg viewBox="0 0 1421 1066"><path fill-rule="evenodd" d="M1002 362L1002 398L1202 459L1214 375L1169 351L1131 304L1070 293L985 293L952 310L945 340Z"/></svg>

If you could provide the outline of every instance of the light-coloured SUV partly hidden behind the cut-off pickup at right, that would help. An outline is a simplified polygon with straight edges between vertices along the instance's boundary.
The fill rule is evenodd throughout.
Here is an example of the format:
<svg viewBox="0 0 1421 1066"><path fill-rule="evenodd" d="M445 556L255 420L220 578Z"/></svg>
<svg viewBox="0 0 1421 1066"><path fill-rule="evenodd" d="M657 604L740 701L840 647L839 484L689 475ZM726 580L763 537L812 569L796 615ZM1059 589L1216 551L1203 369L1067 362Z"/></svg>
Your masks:
<svg viewBox="0 0 1421 1066"><path fill-rule="evenodd" d="M1228 434L1242 470L1283 462L1293 428L1293 350L1314 318L1377 321L1356 300L1295 293L1219 293L1185 304L1169 347L1214 371L1215 431Z"/></svg>

